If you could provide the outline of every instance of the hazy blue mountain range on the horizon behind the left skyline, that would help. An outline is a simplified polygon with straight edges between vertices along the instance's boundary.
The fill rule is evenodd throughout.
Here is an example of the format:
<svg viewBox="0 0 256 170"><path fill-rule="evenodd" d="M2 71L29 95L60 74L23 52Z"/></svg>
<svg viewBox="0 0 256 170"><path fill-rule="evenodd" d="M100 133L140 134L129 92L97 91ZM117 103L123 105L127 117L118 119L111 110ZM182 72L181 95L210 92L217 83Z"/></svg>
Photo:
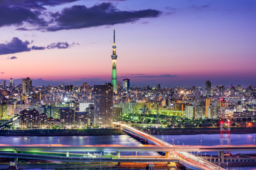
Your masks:
<svg viewBox="0 0 256 170"><path fill-rule="evenodd" d="M4 80L5 79L0 79L1 84L4 84ZM88 82L90 86L93 86L94 84L96 85L103 85L105 83L105 81L73 81L73 82L55 82L55 81L46 81L43 79L31 79L32 81L32 86L48 86L48 85L52 85L52 86L58 86L61 84L66 84L66 85L74 85L74 86L80 86L82 85L84 82ZM13 83L15 83L15 86L17 86L18 84L22 84L22 79L15 79L13 80ZM6 85L10 85L10 80L6 80Z"/></svg>

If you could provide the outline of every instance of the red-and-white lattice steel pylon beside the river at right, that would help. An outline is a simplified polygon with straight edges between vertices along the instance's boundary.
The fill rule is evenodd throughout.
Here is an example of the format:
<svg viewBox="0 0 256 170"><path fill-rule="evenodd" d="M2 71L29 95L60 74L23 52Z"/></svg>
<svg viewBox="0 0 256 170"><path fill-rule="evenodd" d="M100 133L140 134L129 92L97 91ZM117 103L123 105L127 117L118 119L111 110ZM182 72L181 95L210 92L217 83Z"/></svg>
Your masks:
<svg viewBox="0 0 256 170"><path fill-rule="evenodd" d="M229 102L220 100L220 145L230 145L230 120L225 115L225 110L229 106Z"/></svg>

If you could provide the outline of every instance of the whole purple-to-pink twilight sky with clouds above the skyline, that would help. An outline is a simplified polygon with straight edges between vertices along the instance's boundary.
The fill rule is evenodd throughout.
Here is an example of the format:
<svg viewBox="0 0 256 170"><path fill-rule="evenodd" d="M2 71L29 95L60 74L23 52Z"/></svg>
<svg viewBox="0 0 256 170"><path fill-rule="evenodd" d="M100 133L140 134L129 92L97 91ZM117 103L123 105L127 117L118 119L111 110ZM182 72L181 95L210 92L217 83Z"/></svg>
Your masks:
<svg viewBox="0 0 256 170"><path fill-rule="evenodd" d="M1 0L0 8L0 79L111 81L115 28L118 81L256 85L255 1Z"/></svg>

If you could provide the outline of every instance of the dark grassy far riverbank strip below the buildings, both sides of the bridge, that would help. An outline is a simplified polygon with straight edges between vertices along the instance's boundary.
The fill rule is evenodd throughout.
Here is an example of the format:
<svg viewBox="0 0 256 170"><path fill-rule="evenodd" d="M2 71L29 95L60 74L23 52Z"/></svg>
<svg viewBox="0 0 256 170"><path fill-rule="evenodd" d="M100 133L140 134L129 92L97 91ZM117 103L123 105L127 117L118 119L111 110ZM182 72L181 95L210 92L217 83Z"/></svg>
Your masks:
<svg viewBox="0 0 256 170"><path fill-rule="evenodd" d="M219 127L201 128L140 128L151 135L198 135L219 134ZM231 134L253 134L255 127L231 127ZM124 135L121 128L111 129L30 129L30 130L0 130L0 136L108 136Z"/></svg>

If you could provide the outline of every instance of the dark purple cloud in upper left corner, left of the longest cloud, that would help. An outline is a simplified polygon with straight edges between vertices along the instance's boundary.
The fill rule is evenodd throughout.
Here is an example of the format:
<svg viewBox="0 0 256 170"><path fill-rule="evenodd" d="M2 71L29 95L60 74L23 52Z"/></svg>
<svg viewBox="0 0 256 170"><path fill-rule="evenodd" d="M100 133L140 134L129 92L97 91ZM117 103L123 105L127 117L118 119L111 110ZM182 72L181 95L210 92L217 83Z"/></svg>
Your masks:
<svg viewBox="0 0 256 170"><path fill-rule="evenodd" d="M39 25L47 26L46 21L39 18L41 12L38 10L32 11L29 8L23 6L12 5L0 5L0 27L8 25L21 25L24 22Z"/></svg>

